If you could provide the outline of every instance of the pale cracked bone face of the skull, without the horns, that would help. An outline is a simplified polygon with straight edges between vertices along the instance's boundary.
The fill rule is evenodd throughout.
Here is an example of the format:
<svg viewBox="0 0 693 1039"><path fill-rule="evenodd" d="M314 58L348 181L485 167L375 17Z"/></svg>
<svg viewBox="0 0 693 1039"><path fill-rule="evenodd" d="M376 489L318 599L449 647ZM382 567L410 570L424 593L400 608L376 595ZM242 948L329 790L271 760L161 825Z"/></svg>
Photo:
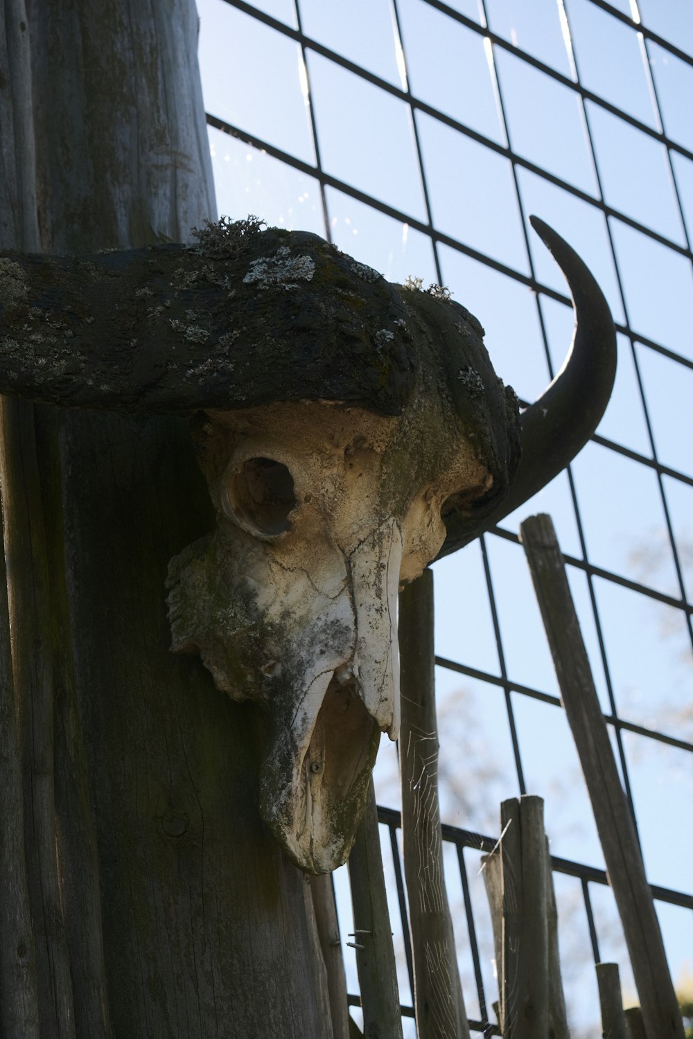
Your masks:
<svg viewBox="0 0 693 1039"><path fill-rule="evenodd" d="M443 502L490 482L452 408L419 405L268 404L197 431L218 520L171 561L174 648L265 708L261 812L313 873L345 860L397 738L400 582L438 552Z"/></svg>

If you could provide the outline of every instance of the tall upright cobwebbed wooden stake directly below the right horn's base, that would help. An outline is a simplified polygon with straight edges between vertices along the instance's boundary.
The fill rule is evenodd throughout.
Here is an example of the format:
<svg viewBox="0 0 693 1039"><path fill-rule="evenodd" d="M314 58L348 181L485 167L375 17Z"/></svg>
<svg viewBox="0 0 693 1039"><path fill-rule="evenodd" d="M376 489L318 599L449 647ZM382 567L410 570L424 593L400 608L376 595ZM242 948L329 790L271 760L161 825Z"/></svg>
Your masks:
<svg viewBox="0 0 693 1039"><path fill-rule="evenodd" d="M399 611L402 837L417 1033L419 1039L461 1039L469 1025L443 873L431 570L400 593Z"/></svg>

